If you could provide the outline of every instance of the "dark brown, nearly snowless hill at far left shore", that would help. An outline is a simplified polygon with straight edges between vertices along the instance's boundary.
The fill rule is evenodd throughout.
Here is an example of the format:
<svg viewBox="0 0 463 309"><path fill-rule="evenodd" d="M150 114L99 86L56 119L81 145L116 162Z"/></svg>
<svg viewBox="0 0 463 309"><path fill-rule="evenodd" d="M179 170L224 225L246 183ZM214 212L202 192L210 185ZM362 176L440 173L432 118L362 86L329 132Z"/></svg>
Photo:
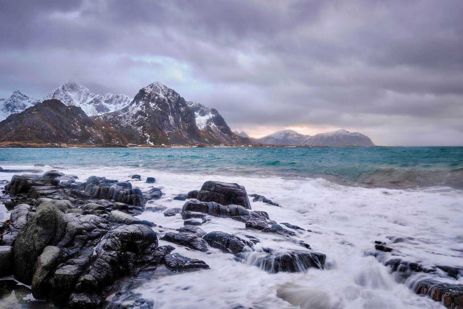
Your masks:
<svg viewBox="0 0 463 309"><path fill-rule="evenodd" d="M0 142L37 144L118 144L127 142L119 132L89 118L81 107L46 100L0 121Z"/></svg>

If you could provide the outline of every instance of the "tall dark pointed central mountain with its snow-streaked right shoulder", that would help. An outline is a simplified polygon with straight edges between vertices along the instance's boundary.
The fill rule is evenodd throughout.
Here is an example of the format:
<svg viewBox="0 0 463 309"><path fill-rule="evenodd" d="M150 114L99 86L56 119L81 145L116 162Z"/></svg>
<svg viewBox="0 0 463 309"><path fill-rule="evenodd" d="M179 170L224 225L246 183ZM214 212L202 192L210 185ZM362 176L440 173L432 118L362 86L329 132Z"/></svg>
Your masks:
<svg viewBox="0 0 463 309"><path fill-rule="evenodd" d="M128 106L94 119L110 123L137 144L211 145L243 141L231 132L216 110L199 103L191 106L196 114L177 92L154 82L140 89Z"/></svg>

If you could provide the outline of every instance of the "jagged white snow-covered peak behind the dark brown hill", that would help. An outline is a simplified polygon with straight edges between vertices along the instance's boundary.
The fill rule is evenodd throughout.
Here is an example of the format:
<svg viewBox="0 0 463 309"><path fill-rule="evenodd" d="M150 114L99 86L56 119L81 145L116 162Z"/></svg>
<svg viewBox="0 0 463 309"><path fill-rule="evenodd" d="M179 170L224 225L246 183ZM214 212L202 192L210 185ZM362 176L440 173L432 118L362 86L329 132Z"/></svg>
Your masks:
<svg viewBox="0 0 463 309"><path fill-rule="evenodd" d="M81 107L89 116L114 112L128 105L133 99L127 95L96 95L75 79L45 95L44 100L56 99L67 106Z"/></svg>

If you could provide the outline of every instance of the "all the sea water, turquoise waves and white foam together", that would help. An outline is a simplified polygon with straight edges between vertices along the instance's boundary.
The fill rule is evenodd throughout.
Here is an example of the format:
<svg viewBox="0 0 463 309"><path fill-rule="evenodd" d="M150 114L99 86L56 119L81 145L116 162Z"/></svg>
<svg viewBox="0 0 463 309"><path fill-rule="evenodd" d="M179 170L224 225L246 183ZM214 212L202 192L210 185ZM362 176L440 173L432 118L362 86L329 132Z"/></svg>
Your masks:
<svg viewBox="0 0 463 309"><path fill-rule="evenodd" d="M206 254L174 245L174 252L202 259L211 269L153 277L138 287L155 308L445 308L413 292L419 278L401 280L373 257L374 241L388 243L410 262L463 266L463 147L0 149L4 169L34 164L81 181L92 175L124 181L140 174L142 181L133 185L142 190L150 186L146 177L155 177L165 193L155 203L168 208L182 207L184 202L172 198L207 180L239 183L282 206L251 202L253 210L310 229L294 239L326 254L325 270L272 274L256 266L253 254L259 248L303 248L282 236L247 230L242 222L215 218L201 228L255 236L261 240L256 252L238 262L219 250ZM0 173L0 180L12 176ZM0 206L0 219L8 216ZM179 215L139 217L163 226L155 228L159 236L183 225ZM463 284L462 277L432 276ZM3 297L0 307L41 303L27 291Z"/></svg>

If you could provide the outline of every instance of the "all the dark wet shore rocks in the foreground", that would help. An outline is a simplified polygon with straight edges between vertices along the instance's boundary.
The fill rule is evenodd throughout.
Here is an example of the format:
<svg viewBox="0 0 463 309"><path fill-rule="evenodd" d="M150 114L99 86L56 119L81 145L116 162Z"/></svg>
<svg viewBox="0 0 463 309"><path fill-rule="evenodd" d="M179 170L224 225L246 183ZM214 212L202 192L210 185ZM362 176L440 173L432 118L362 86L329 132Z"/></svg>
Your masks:
<svg viewBox="0 0 463 309"><path fill-rule="evenodd" d="M182 208L167 208L156 205L163 189L155 187L155 177L146 178L150 186L142 191L136 186L140 175L123 180L92 176L80 181L58 170L14 172L25 174L0 184L5 186L0 204L11 211L10 219L0 223L0 285L14 290L19 282L33 299L59 308L153 308L152 301L135 291L150 277L210 268L201 259L175 252L177 248L206 254L219 250L270 274L310 268L330 271L332 267L325 254L295 238L316 232L290 222L278 223L266 211L253 210L249 196L267 207L284 205L263 195L248 195L237 183L207 181L201 188L173 197L185 201ZM172 221L181 218L183 227L171 229L137 218L150 211ZM241 225L242 233L207 233L201 228L217 221L226 225L226 220ZM299 249L262 246L251 232L262 238L274 235L275 241ZM160 245L160 241L170 244ZM427 276L408 284L413 292L447 308L463 308L462 285L457 281L461 268L394 259L394 246L381 241L372 247L366 255L389 266L397 281L410 283L416 274ZM440 272L454 282L439 281Z"/></svg>

